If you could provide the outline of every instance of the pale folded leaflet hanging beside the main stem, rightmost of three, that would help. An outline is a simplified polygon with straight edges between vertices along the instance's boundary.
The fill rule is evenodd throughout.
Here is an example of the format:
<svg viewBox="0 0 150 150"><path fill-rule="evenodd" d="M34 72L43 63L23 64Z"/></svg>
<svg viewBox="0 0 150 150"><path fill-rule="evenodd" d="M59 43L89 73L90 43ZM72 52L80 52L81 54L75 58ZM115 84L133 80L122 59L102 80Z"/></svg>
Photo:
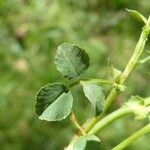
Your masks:
<svg viewBox="0 0 150 150"><path fill-rule="evenodd" d="M103 88L91 81L81 81L85 96L89 99L94 107L94 114L97 116L103 111L105 95Z"/></svg>

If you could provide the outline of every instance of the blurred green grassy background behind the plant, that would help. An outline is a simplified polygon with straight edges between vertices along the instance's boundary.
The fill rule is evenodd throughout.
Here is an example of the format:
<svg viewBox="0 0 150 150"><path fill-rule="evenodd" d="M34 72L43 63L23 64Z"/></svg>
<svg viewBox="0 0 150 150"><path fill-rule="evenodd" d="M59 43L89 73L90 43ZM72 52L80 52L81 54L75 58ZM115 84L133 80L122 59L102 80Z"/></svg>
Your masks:
<svg viewBox="0 0 150 150"><path fill-rule="evenodd" d="M34 108L36 92L49 82L65 82L53 62L63 42L77 44L90 55L87 77L110 78L108 61L123 70L143 26L125 8L146 17L150 13L149 0L0 0L1 150L62 150L67 146L76 128L69 118L61 123L39 120ZM145 49L149 48L148 42ZM114 108L130 95L148 96L149 68L148 63L136 67ZM105 87L106 94L109 90ZM74 111L83 123L92 116L90 104L80 86L73 95ZM144 124L132 116L119 119L99 134L103 149L111 149ZM149 142L150 137L143 136L127 149L149 150Z"/></svg>

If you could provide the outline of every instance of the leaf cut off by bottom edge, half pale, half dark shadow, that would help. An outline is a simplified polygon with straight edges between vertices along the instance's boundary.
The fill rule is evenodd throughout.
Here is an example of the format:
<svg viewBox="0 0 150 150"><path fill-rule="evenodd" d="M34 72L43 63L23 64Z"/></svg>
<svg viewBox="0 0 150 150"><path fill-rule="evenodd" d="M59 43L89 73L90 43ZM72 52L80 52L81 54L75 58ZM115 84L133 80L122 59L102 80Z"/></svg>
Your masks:
<svg viewBox="0 0 150 150"><path fill-rule="evenodd" d="M100 139L95 135L81 136L74 144L73 150L100 150Z"/></svg>

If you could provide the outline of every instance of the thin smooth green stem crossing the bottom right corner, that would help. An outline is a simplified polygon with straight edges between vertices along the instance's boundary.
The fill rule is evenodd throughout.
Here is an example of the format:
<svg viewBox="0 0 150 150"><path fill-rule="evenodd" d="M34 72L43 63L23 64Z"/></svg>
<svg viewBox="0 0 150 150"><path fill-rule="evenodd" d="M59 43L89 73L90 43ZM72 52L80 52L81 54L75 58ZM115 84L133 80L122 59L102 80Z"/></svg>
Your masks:
<svg viewBox="0 0 150 150"><path fill-rule="evenodd" d="M128 137L126 140L115 146L112 150L121 150L130 145L132 142L137 140L139 137L143 136L146 133L150 132L150 124L146 125L145 127L141 128L134 134L132 134L130 137Z"/></svg>

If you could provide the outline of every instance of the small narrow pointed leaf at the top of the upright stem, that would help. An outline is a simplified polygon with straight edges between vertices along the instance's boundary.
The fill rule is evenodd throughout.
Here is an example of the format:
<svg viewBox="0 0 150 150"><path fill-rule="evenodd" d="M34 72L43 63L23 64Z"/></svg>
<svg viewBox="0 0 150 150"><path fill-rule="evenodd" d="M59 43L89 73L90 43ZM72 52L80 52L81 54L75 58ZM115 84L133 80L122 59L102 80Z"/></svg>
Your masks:
<svg viewBox="0 0 150 150"><path fill-rule="evenodd" d="M147 23L147 19L142 14L140 14L138 11L130 10L130 9L126 9L126 10L132 17L134 17L138 21L143 21L145 24Z"/></svg>

